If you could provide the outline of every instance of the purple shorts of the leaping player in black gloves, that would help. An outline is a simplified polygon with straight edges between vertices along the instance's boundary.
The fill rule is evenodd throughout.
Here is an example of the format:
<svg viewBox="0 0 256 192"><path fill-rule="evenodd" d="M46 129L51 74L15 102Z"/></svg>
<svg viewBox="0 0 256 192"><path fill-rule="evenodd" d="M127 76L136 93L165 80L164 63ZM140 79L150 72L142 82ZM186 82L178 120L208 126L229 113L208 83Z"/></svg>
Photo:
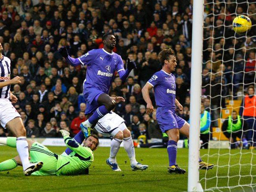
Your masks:
<svg viewBox="0 0 256 192"><path fill-rule="evenodd" d="M98 98L104 93L103 91L84 85L83 87L83 98L86 100L85 114L93 113L98 107Z"/></svg>

